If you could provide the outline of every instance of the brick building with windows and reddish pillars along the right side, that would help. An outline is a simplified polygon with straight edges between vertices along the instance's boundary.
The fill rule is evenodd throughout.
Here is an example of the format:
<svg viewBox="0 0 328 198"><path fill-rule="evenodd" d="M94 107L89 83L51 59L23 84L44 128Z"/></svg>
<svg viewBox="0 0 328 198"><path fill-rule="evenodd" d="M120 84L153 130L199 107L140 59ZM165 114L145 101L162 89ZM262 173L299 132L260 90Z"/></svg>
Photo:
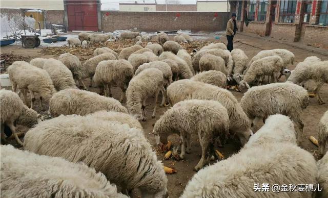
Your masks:
<svg viewBox="0 0 328 198"><path fill-rule="evenodd" d="M239 31L328 48L328 1L238 1Z"/></svg>

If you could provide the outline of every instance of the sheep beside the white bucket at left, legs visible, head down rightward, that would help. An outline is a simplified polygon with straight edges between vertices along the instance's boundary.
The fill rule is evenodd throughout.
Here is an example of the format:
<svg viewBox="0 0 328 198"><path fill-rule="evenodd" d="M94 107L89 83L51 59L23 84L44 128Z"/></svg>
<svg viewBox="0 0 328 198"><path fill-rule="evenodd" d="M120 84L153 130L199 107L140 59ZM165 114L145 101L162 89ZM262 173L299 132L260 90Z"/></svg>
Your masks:
<svg viewBox="0 0 328 198"><path fill-rule="evenodd" d="M56 92L47 71L34 67L25 61L15 61L7 68L12 90L16 92L17 86L22 90L27 103L27 90L31 95L31 108L35 101L34 92L40 95L40 106L44 110L42 101L49 102L51 96Z"/></svg>

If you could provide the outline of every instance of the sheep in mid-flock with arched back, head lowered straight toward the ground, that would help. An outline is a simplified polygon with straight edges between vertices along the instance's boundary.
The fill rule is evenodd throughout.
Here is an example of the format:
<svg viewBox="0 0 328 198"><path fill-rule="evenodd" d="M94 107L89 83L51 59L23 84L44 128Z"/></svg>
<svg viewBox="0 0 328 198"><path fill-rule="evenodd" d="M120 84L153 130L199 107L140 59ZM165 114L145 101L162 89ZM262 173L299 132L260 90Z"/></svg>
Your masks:
<svg viewBox="0 0 328 198"><path fill-rule="evenodd" d="M155 95L155 104L152 118L157 109L158 93L166 93L163 86L163 73L156 68L141 71L129 83L127 89L127 106L130 114L137 120L146 120L146 100ZM166 94L163 94L161 106L165 104Z"/></svg>

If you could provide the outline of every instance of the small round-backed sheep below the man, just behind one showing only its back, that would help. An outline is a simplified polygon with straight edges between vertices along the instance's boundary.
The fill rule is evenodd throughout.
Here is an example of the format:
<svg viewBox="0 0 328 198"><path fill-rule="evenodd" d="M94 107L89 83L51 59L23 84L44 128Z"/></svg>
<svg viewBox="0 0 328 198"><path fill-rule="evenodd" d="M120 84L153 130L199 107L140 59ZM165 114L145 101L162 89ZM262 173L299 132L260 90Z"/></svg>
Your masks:
<svg viewBox="0 0 328 198"><path fill-rule="evenodd" d="M221 71L226 76L228 73L226 69L226 65L224 65L224 60L221 57L217 57L211 54L206 54L200 58L199 70L200 71L217 70L217 71Z"/></svg>

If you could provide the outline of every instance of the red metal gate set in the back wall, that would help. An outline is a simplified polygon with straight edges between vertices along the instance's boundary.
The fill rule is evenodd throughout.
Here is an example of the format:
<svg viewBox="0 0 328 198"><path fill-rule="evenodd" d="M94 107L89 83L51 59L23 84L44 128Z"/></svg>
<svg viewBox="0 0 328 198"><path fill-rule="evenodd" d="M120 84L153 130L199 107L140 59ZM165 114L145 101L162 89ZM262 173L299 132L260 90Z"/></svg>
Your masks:
<svg viewBox="0 0 328 198"><path fill-rule="evenodd" d="M98 31L98 1L66 1L68 30Z"/></svg>

